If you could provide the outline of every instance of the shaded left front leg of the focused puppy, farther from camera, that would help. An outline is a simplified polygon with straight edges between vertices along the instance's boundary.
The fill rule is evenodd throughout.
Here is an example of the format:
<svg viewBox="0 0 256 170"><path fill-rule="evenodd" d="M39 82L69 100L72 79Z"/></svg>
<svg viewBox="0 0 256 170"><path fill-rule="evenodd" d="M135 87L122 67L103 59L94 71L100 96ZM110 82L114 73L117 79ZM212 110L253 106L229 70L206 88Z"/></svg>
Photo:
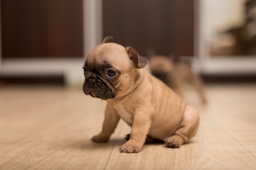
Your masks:
<svg viewBox="0 0 256 170"><path fill-rule="evenodd" d="M110 135L115 131L119 120L120 116L117 114L117 111L111 106L107 105L102 130L99 135L92 137L92 141L107 142Z"/></svg>

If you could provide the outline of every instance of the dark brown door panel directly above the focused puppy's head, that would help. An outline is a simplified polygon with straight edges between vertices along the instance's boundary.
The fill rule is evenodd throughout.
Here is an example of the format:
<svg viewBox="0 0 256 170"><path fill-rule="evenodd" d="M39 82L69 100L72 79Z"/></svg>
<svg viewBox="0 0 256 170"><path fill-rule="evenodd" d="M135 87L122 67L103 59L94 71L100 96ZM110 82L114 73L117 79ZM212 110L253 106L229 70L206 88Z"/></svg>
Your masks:
<svg viewBox="0 0 256 170"><path fill-rule="evenodd" d="M103 36L141 55L193 56L193 0L103 0Z"/></svg>

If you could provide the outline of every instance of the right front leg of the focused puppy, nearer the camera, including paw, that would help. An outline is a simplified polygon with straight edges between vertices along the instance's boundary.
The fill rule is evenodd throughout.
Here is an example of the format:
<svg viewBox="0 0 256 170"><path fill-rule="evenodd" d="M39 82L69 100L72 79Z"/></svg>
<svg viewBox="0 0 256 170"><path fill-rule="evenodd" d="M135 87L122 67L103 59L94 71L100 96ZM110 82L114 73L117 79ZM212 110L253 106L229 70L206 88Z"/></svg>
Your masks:
<svg viewBox="0 0 256 170"><path fill-rule="evenodd" d="M140 152L145 143L151 121L152 115L143 112L135 113L130 139L119 150L126 153Z"/></svg>

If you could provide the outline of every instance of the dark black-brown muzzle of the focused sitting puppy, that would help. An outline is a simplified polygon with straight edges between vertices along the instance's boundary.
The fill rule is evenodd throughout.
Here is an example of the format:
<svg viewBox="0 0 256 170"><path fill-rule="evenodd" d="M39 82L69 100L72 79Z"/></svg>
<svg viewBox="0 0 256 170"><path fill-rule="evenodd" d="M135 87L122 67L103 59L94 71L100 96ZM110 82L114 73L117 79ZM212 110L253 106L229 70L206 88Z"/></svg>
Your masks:
<svg viewBox="0 0 256 170"><path fill-rule="evenodd" d="M85 95L97 97L103 100L113 99L117 92L111 84L97 75L85 78L83 83L83 92Z"/></svg>

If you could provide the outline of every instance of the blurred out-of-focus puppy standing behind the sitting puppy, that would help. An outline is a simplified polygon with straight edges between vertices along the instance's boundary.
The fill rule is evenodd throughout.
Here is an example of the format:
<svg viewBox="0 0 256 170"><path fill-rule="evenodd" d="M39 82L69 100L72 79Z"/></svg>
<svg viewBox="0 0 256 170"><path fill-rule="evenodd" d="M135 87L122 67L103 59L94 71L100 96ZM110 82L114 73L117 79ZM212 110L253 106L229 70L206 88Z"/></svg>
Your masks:
<svg viewBox="0 0 256 170"><path fill-rule="evenodd" d="M202 79L192 71L191 59L176 56L153 55L148 57L151 73L184 98L184 85L191 84L198 91L202 104L207 99Z"/></svg>

